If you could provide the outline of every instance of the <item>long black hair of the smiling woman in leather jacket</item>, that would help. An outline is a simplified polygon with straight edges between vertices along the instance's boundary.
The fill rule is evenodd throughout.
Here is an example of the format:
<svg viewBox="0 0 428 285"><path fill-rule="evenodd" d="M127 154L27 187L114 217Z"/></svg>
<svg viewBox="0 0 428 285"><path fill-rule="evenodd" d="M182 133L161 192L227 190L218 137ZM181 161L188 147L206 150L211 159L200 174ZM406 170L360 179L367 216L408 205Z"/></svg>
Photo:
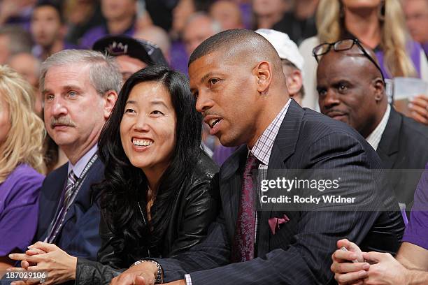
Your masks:
<svg viewBox="0 0 428 285"><path fill-rule="evenodd" d="M150 226L143 222L138 203L145 214L148 182L143 170L131 165L120 140L120 122L131 89L140 82L159 82L169 90L176 112L176 146L171 163L160 178L152 205ZM113 233L115 256L124 266L138 258L159 256L164 233L169 224L176 191L192 175L201 153L202 117L195 108L185 75L164 66L148 66L131 75L124 83L115 108L99 139L99 156L106 170L101 190L101 212ZM154 189L155 190L155 189ZM147 221L147 218L145 218ZM149 230L150 229L150 230Z"/></svg>

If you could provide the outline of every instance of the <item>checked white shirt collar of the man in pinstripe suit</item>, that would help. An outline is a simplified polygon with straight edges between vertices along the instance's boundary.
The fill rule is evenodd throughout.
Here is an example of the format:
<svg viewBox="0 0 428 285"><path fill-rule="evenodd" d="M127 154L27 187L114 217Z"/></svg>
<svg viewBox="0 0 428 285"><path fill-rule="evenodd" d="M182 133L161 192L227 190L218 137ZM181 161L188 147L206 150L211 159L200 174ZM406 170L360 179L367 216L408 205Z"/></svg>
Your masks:
<svg viewBox="0 0 428 285"><path fill-rule="evenodd" d="M275 142L276 136L280 129L281 124L285 114L287 113L288 106L290 105L291 98L288 99L287 103L284 105L283 109L280 110L275 119L269 124L269 126L264 130L262 136L257 139L254 147L252 147L252 154L265 166L269 164L269 158L271 157L273 142Z"/></svg>

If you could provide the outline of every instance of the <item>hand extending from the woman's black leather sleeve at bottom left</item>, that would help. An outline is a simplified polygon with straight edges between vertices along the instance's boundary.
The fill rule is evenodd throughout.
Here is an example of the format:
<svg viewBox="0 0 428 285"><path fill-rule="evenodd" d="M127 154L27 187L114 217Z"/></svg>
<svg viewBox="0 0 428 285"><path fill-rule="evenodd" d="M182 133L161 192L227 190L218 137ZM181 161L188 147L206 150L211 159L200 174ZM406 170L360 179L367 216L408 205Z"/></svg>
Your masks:
<svg viewBox="0 0 428 285"><path fill-rule="evenodd" d="M25 254L10 254L10 259L21 261L22 267L29 271L46 272L43 284L59 284L76 279L77 258L70 256L55 244L36 242L29 246ZM12 268L12 270L18 270ZM20 269L22 270L22 268ZM38 284L39 280L13 282L13 285Z"/></svg>

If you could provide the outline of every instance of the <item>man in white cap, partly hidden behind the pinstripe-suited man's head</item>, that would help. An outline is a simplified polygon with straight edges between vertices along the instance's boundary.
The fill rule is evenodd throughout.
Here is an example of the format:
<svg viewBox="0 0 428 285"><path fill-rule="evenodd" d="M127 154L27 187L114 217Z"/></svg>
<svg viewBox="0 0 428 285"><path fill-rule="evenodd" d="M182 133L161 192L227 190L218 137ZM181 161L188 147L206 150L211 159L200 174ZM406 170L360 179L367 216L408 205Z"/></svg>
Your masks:
<svg viewBox="0 0 428 285"><path fill-rule="evenodd" d="M287 34L273 29L258 29L255 32L264 36L275 47L283 63L283 72L285 80L287 80L290 97L301 105L301 100L305 94L303 86L304 58L301 56L296 43L290 40Z"/></svg>

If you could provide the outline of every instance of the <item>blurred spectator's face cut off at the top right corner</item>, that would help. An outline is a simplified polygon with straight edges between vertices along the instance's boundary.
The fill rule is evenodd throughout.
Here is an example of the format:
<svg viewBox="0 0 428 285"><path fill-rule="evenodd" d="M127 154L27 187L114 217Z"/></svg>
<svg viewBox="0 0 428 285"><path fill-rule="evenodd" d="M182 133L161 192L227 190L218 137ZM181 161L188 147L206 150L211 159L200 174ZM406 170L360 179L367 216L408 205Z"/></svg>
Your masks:
<svg viewBox="0 0 428 285"><path fill-rule="evenodd" d="M428 1L404 0L404 15L408 31L413 40L422 45L425 55L428 54Z"/></svg>

